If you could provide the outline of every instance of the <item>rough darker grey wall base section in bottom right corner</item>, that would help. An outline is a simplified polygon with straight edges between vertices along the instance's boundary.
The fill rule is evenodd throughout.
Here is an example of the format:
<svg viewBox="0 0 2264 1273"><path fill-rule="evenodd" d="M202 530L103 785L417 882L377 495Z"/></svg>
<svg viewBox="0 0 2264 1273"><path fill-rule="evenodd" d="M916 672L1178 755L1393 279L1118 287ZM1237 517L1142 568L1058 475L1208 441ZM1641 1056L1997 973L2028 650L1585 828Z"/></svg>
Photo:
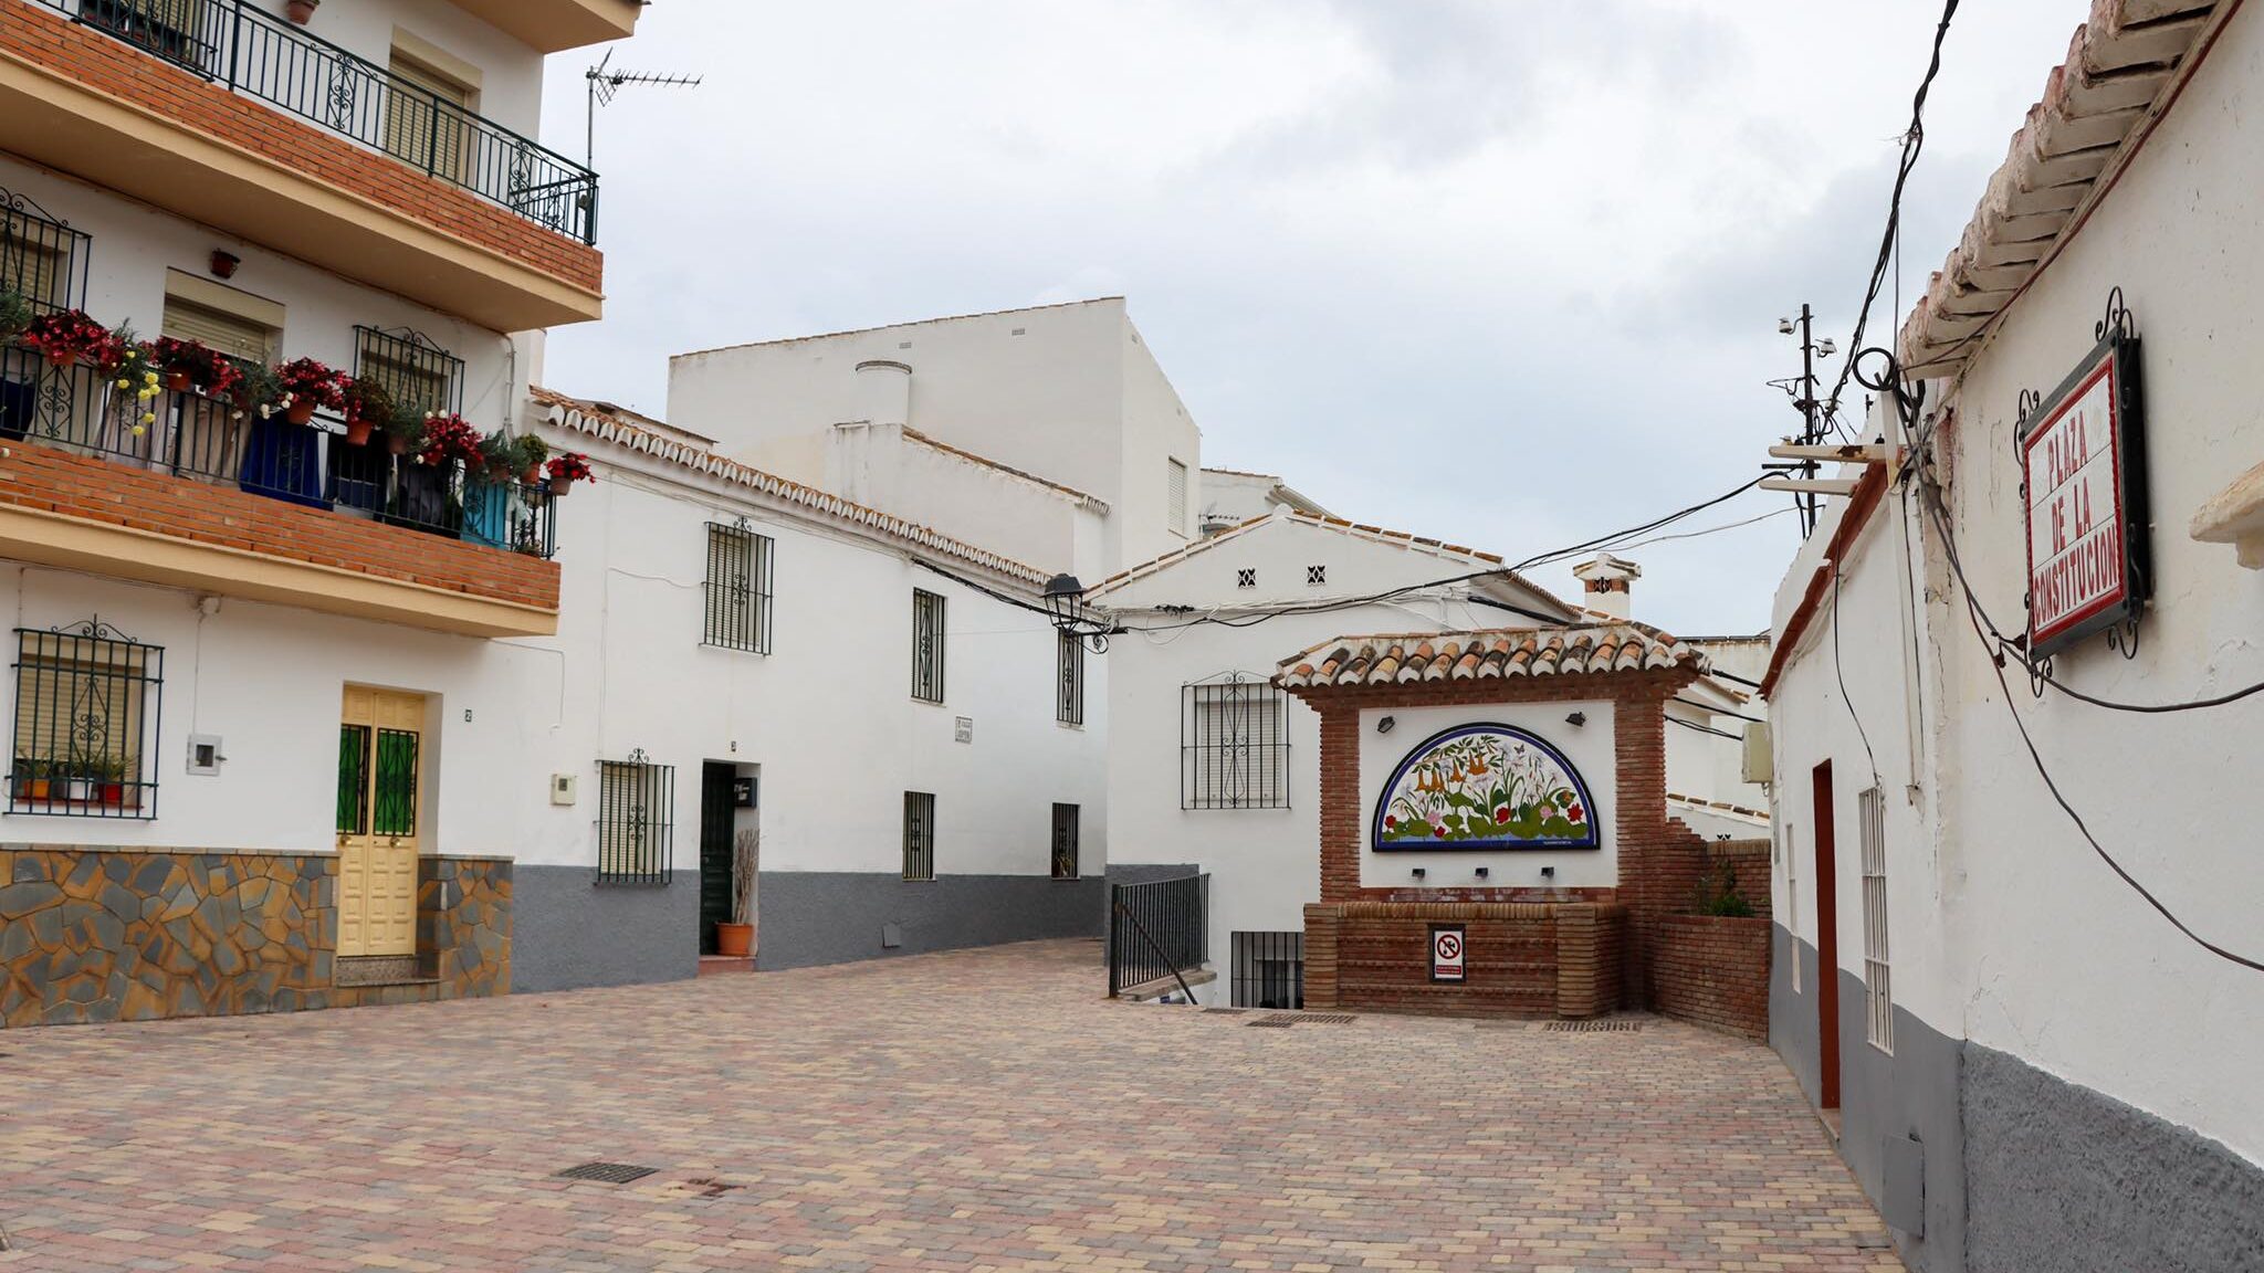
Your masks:
<svg viewBox="0 0 2264 1273"><path fill-rule="evenodd" d="M2264 1169L2189 1128L1970 1042L1965 1142L1972 1273L2264 1271Z"/></svg>

